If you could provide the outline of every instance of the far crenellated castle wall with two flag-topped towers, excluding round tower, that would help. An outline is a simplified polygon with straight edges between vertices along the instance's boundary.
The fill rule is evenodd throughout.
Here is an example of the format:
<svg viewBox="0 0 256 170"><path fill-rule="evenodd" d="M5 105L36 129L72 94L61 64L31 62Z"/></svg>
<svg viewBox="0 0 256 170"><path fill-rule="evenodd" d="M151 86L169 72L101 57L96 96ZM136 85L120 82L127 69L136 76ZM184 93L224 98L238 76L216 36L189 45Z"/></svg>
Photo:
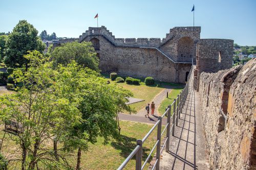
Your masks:
<svg viewBox="0 0 256 170"><path fill-rule="evenodd" d="M175 27L162 40L136 39L115 38L104 26L89 27L79 42L93 43L103 73L184 83L192 59L195 62L200 32L200 27Z"/></svg>

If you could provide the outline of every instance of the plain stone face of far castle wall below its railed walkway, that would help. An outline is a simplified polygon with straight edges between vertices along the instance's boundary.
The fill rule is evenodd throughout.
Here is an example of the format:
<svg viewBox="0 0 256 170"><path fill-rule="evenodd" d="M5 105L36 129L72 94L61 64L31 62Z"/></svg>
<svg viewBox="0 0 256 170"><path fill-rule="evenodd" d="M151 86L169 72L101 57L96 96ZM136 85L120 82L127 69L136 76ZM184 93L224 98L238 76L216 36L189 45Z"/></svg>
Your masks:
<svg viewBox="0 0 256 170"><path fill-rule="evenodd" d="M191 64L175 64L154 48L114 46L102 36L86 37L84 41L99 40L96 50L103 73L117 72L122 76L154 77L166 82L185 82ZM176 76L176 68L179 69ZM176 80L178 77L178 80Z"/></svg>

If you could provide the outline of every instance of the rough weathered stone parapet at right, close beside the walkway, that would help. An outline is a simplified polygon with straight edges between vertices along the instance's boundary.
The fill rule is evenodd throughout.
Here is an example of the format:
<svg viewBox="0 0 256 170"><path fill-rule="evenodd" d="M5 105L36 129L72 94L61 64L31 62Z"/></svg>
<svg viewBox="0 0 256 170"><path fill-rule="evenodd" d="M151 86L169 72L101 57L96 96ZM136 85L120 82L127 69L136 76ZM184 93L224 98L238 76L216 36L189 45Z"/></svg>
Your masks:
<svg viewBox="0 0 256 170"><path fill-rule="evenodd" d="M200 103L211 169L256 169L256 59L200 74Z"/></svg>

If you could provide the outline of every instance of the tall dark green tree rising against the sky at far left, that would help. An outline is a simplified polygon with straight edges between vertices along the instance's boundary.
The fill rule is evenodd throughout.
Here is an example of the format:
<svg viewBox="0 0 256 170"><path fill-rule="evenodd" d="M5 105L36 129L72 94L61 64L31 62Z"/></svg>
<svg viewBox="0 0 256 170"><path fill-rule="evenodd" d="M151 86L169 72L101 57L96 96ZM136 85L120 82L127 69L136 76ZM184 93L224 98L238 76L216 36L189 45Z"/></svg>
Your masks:
<svg viewBox="0 0 256 170"><path fill-rule="evenodd" d="M28 51L37 50L42 52L45 44L37 36L38 31L26 20L20 20L14 27L13 32L8 35L4 62L9 67L26 66L28 60L23 56Z"/></svg>

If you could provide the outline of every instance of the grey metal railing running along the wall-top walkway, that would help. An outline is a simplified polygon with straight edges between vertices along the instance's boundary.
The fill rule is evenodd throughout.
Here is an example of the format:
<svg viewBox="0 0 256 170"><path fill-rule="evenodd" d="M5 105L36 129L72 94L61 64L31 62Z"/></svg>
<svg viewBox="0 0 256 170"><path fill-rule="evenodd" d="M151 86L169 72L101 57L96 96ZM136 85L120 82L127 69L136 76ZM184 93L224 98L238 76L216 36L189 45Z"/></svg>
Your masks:
<svg viewBox="0 0 256 170"><path fill-rule="evenodd" d="M191 66L193 67L193 65ZM185 104L187 95L188 95L188 86L190 83L190 75L191 71L193 71L193 68L190 69L190 72L188 74L188 82L186 83L185 88L179 93L177 98L174 100L172 104L168 106L166 111L162 116L158 117L158 120L156 124L151 128L150 131L147 132L147 134L143 137L143 139L138 139L137 140L137 145L135 149L132 151L132 153L123 161L123 163L118 167L118 170L121 170L125 167L125 165L132 159L134 155L136 155L136 170L141 170L145 167L146 163L148 160L150 160L150 157L154 150L157 148L156 151L156 162L153 165L152 169L159 170L160 167L160 154L162 153L164 147L166 152L169 151L169 141L170 141L170 132L172 132L172 135L174 136L175 132L175 126L178 126L178 119L180 118L180 113L182 112L183 105ZM177 105L177 106L176 106ZM171 114L171 108L173 107L173 114ZM164 127L163 131L161 131L162 128L162 118L167 114L167 123L166 126ZM172 123L171 123L172 120ZM172 125L171 125L172 124ZM142 148L143 148L143 143L145 140L148 138L148 136L151 135L153 130L157 127L157 141L154 144L154 147L152 148L150 154L147 156L146 160L144 161L143 165L142 164ZM161 137L164 135L166 131L166 137L165 141L162 145L161 148Z"/></svg>

